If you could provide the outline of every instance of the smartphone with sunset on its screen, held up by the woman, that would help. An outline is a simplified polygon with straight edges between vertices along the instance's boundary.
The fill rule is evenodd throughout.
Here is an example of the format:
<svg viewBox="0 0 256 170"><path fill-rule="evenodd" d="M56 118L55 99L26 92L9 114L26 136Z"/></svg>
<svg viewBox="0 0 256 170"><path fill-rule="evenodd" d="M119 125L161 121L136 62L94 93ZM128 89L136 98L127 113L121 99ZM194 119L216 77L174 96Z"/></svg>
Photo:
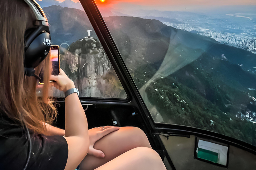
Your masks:
<svg viewBox="0 0 256 170"><path fill-rule="evenodd" d="M51 45L50 57L52 63L52 75L59 75L60 73L60 47L59 45ZM44 84L44 72L43 70L39 74L40 84Z"/></svg>

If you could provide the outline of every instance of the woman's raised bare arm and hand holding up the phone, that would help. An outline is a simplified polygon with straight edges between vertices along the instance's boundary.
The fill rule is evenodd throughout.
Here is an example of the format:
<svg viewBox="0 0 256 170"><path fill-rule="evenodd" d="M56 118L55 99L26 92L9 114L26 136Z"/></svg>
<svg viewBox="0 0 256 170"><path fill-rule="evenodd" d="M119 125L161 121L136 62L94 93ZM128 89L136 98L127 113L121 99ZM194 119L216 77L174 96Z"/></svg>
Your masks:
<svg viewBox="0 0 256 170"><path fill-rule="evenodd" d="M60 69L58 76L51 75L55 80L53 85L63 91L74 88L75 85ZM87 119L76 93L65 98L65 139L68 143L68 160L65 170L75 169L83 160L89 150L89 134Z"/></svg>

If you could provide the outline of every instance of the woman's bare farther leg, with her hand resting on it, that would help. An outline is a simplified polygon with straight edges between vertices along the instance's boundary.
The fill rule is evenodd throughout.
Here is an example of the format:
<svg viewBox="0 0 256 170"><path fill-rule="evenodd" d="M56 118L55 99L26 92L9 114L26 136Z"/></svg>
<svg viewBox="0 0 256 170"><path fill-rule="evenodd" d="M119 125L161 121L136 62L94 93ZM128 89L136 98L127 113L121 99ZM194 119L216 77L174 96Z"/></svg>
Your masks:
<svg viewBox="0 0 256 170"><path fill-rule="evenodd" d="M94 144L95 149L102 150L105 154L104 158L96 158L87 155L80 164L81 170L93 170L117 156L136 147L151 148L148 138L140 128L121 127Z"/></svg>

